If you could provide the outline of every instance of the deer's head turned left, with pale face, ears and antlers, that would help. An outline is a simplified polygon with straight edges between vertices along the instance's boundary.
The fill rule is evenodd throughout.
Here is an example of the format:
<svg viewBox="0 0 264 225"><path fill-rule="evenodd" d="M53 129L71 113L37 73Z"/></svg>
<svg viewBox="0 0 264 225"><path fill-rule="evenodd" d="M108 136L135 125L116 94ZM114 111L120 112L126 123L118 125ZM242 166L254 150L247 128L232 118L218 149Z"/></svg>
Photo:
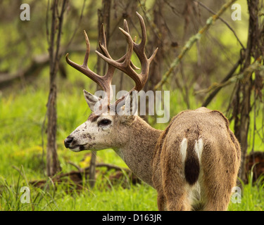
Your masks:
<svg viewBox="0 0 264 225"><path fill-rule="evenodd" d="M75 129L64 141L65 147L70 148L73 151L80 150L101 150L104 148L120 148L122 143L127 141L129 135L129 126L134 120L134 115L132 109L135 107L134 104L128 104L130 107L124 107L126 103L130 103L130 96L133 91L140 91L143 89L146 84L146 80L149 75L149 65L153 58L156 55L158 49L156 49L150 58L146 57L145 45L146 45L146 27L144 20L139 13L137 13L139 22L142 28L142 41L139 44L136 44L130 36L130 32L127 26L127 21L124 20L124 30L120 28L122 34L125 35L127 40L128 49L127 53L118 60L113 60L110 54L108 53L106 47L106 36L101 26L101 41L99 41L99 46L102 53L96 51L96 53L108 63L108 70L106 75L100 76L95 72L90 70L87 66L90 44L86 32L84 31L84 36L86 39L86 53L84 56L84 63L78 65L68 58L66 55L66 61L76 70L79 70L84 75L92 79L96 84L101 86L101 89L106 92L106 95L103 99L90 94L84 90L84 98L89 105L89 108L92 110L92 114L89 115L88 120L81 124ZM140 64L142 66L141 72L137 73L135 70L139 70L131 61L132 53L136 53L139 58ZM125 72L126 75L131 77L135 86L128 92L126 96L122 96L114 103L111 103L113 98L113 90L111 87L111 81L113 79L113 73L115 69Z"/></svg>

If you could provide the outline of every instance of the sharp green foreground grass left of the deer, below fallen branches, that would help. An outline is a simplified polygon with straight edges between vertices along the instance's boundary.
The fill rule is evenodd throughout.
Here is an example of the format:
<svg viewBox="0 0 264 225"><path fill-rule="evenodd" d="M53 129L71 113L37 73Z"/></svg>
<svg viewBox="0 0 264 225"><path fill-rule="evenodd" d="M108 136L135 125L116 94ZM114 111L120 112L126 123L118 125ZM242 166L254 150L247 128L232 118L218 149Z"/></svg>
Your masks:
<svg viewBox="0 0 264 225"><path fill-rule="evenodd" d="M102 182L106 182L107 179ZM43 188L36 188L27 184L25 180L8 183L0 179L0 210L8 211L90 211L90 210L157 210L156 191L146 185L137 185L130 188L121 186L99 187L97 182L93 190L82 188L76 190L70 183L53 184L47 181ZM30 203L21 203L23 192L20 188L30 187ZM55 188L56 186L56 188ZM23 196L22 196L23 197Z"/></svg>

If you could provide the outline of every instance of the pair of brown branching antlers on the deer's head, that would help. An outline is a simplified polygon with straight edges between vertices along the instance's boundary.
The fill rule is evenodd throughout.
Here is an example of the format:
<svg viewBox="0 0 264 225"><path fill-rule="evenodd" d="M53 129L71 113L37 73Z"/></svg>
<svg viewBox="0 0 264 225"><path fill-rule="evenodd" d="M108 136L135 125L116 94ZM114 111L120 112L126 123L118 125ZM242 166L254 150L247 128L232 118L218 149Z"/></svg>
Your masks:
<svg viewBox="0 0 264 225"><path fill-rule="evenodd" d="M108 70L106 72L106 75L100 76L97 75L95 72L90 70L87 66L88 58L89 58L89 53L90 53L90 44L89 44L89 39L87 37L86 32L84 31L84 37L86 40L86 53L84 56L84 63L82 65L78 65L77 63L74 63L72 60L68 58L68 53L66 55L66 61L69 65L71 65L73 68L76 70L79 70L82 72L84 75L92 79L96 84L99 84L103 91L106 91L106 97L103 98L103 103L107 103L108 107L110 106L110 101L113 98L113 90L111 87L111 82L113 79L113 73L115 72L115 68L118 68L122 72L125 72L129 77L131 77L134 82L135 86L133 89L129 91L129 93L133 90L140 91L143 89L144 85L146 84L146 81L149 76L149 65L153 58L156 56L156 52L158 51L158 48L153 52L152 56L150 58L146 57L145 53L145 46L146 46L146 26L144 23L144 20L139 13L137 13L137 17L139 18L139 22L142 28L142 41L139 44L136 44L133 40L132 37L130 36L130 32L128 29L127 25L127 20L124 20L124 30L122 28L119 28L121 32L125 35L125 38L127 40L128 44L128 50L127 53L125 53L124 56L122 56L118 60L113 60L111 58L110 54L108 53L107 46L106 46L106 35L103 29L103 25L101 26L101 41L99 41L99 46L100 49L103 53L99 53L99 51L96 51L96 53L103 58L108 63ZM142 72L137 73L135 70L139 70L131 61L131 56L133 51L137 54L137 57L139 58L139 61L142 65ZM115 101L115 105L120 103L125 98L125 96L122 96L122 98L118 99ZM106 101L106 99L108 101Z"/></svg>

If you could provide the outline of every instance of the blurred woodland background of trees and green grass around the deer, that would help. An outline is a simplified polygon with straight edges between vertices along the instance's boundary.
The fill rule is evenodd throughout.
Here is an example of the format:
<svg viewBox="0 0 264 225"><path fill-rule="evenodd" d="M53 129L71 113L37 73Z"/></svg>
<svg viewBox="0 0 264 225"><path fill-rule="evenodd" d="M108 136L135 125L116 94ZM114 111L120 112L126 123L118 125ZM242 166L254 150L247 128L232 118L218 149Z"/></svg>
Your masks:
<svg viewBox="0 0 264 225"><path fill-rule="evenodd" d="M30 6L30 20L22 4ZM170 117L201 106L226 115L242 153L241 201L229 210L263 210L264 8L258 0L1 0L0 210L157 210L156 191L113 150L73 153L63 145L90 113L82 89L98 89L65 54L82 63L86 30L89 68L103 75L106 65L94 53L101 24L108 51L119 58L127 48L118 30L124 19L140 40L136 12L146 23L147 56L158 47L145 91L170 91ZM122 72L113 84L133 85ZM168 125L156 124L156 115L144 119L157 129ZM21 201L22 187L30 190L29 203Z"/></svg>

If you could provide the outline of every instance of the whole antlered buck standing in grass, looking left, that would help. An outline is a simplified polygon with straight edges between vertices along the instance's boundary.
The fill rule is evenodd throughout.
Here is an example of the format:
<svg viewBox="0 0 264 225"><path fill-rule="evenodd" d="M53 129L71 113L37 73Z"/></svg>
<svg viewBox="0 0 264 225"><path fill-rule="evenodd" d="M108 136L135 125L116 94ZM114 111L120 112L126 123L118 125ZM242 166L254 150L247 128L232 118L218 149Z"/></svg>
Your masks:
<svg viewBox="0 0 264 225"><path fill-rule="evenodd" d="M87 66L90 44L85 31L84 63L74 63L66 54L67 63L99 84L106 95L99 98L83 90L92 113L65 139L65 148L74 152L112 148L139 179L156 189L158 210L227 210L237 182L241 150L225 115L208 108L184 110L172 117L162 131L133 114L135 104L129 96L143 89L150 63L158 51L153 51L149 58L146 56L146 25L139 13L137 17L141 42L137 44L132 39L124 20L124 29L120 31L128 47L118 60L108 53L101 26L101 52L96 53L108 64L105 75L97 75ZM133 52L139 58L140 73L132 63ZM135 85L127 95L111 103L115 69L132 78Z"/></svg>

